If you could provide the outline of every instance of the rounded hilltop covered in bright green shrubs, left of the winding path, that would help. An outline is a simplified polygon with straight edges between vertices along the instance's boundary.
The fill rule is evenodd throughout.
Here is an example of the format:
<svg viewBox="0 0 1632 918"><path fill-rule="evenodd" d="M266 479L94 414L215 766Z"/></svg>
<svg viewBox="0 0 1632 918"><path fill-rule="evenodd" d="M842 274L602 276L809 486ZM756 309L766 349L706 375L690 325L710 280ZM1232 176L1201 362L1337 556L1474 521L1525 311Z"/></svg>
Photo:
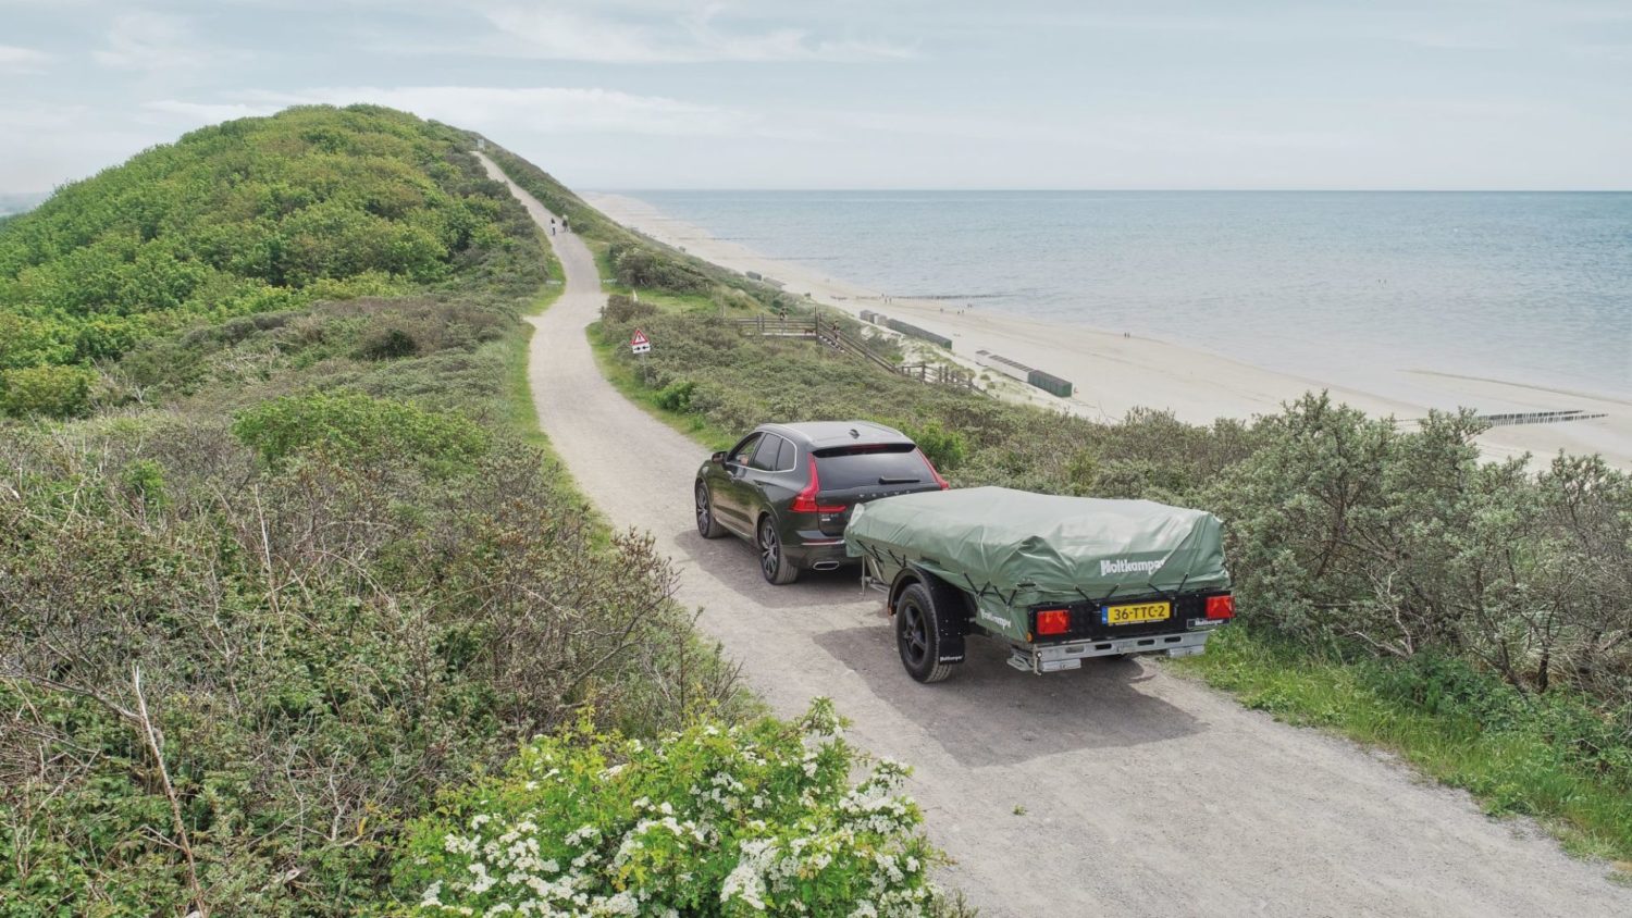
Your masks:
<svg viewBox="0 0 1632 918"><path fill-rule="evenodd" d="M472 135L374 106L194 130L0 223L0 404L72 414L90 369L199 320L537 282Z"/></svg>

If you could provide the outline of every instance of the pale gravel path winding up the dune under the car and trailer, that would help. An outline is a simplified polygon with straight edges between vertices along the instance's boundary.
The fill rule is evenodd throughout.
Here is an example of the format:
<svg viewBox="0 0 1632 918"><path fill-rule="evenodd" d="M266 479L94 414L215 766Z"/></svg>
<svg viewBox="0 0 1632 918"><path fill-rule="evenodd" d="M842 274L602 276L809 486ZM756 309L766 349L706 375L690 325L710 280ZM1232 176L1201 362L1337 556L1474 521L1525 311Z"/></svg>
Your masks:
<svg viewBox="0 0 1632 918"><path fill-rule="evenodd" d="M770 587L746 543L697 535L703 452L601 377L584 339L604 302L594 259L574 235L552 241L566 290L530 320L529 375L555 450L614 523L656 536L681 600L778 713L832 696L860 745L914 765L930 833L958 861L947 880L984 915L1632 915L1603 864L1155 665L1030 677L971 642L953 680L914 683L854 574Z"/></svg>

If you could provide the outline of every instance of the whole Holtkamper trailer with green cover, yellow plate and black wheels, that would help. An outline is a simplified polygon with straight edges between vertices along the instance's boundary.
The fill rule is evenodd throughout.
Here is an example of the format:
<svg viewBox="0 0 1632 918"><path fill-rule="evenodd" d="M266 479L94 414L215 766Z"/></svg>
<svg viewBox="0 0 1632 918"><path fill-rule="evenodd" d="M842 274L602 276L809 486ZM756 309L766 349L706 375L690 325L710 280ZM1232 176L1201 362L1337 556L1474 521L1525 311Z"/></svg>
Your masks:
<svg viewBox="0 0 1632 918"><path fill-rule="evenodd" d="M857 505L845 553L885 592L901 664L940 682L968 638L1046 673L1092 657L1206 649L1235 616L1222 527L1154 501L968 488Z"/></svg>

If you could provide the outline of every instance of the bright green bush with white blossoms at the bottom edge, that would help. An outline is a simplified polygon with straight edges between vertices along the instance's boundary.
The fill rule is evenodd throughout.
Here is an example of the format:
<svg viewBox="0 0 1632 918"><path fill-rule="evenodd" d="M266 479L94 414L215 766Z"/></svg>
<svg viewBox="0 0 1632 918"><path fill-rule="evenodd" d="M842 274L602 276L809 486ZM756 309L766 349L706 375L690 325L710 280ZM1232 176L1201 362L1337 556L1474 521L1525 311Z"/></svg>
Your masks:
<svg viewBox="0 0 1632 918"><path fill-rule="evenodd" d="M450 794L401 859L416 915L934 915L943 861L906 766L796 722L700 719L641 742L574 730ZM852 779L855 775L858 779Z"/></svg>

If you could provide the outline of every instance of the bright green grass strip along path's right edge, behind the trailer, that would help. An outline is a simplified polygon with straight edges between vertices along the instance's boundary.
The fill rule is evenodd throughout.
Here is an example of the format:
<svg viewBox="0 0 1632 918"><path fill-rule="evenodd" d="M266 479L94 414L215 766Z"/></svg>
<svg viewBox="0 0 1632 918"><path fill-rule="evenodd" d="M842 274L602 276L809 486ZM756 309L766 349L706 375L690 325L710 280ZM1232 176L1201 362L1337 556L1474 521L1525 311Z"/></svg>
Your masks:
<svg viewBox="0 0 1632 918"><path fill-rule="evenodd" d="M1614 861L1632 879L1632 794L1560 761L1557 747L1534 730L1402 706L1379 693L1379 664L1322 660L1245 628L1226 629L1206 654L1169 665L1278 721L1389 750L1470 791L1490 815L1534 817L1572 854Z"/></svg>

